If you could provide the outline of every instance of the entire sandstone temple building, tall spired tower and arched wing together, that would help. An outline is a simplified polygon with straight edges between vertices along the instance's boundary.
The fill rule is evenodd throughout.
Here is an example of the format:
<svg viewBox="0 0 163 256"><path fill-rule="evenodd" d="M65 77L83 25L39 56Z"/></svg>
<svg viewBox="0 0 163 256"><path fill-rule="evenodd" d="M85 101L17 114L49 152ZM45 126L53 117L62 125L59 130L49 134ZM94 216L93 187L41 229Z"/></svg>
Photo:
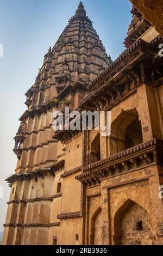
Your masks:
<svg viewBox="0 0 163 256"><path fill-rule="evenodd" d="M163 40L134 7L112 62L82 2L45 55L15 139L3 245L163 245ZM100 130L54 131L97 111Z"/></svg>

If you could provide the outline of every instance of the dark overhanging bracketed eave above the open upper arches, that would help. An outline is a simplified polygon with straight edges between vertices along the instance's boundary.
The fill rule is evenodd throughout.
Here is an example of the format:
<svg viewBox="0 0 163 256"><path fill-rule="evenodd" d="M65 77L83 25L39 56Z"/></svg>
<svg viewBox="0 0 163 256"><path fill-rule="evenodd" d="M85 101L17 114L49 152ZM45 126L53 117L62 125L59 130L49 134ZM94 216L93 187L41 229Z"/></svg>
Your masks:
<svg viewBox="0 0 163 256"><path fill-rule="evenodd" d="M79 102L79 107L88 110L111 108L142 83L154 86L161 82L162 76L159 74L162 74L162 59L154 58L158 53L154 45L158 44L158 41L162 41L160 36L150 44L139 39L124 51L109 68L87 86L91 93Z"/></svg>

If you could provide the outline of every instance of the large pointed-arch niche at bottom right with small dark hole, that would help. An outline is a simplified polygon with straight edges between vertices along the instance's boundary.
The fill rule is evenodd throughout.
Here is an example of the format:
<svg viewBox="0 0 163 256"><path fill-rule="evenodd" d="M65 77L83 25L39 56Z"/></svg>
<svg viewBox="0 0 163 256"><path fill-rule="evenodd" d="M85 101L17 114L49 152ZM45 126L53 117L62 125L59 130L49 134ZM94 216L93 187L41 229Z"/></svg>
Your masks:
<svg viewBox="0 0 163 256"><path fill-rule="evenodd" d="M148 212L128 199L114 217L114 245L152 245L152 237Z"/></svg>

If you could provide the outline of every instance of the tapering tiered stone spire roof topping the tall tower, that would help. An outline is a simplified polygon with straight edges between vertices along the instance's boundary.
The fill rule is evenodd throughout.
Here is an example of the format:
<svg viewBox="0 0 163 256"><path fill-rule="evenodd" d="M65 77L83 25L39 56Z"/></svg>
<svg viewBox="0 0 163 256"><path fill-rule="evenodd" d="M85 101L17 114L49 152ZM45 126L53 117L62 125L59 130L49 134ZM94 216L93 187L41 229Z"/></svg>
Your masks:
<svg viewBox="0 0 163 256"><path fill-rule="evenodd" d="M110 63L111 58L80 2L54 47L45 54L39 75L26 94L28 109L47 103L70 84L90 83Z"/></svg>

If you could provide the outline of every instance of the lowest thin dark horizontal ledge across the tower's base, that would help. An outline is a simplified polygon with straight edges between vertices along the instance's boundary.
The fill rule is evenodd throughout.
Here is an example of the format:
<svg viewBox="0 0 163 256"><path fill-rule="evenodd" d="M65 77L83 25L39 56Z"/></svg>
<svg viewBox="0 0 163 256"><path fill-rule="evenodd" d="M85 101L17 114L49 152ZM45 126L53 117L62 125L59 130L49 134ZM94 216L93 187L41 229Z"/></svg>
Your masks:
<svg viewBox="0 0 163 256"><path fill-rule="evenodd" d="M30 227L59 227L60 222L55 223L29 223L29 224L22 224L22 223L7 223L4 224L3 227L21 227L21 228L30 228Z"/></svg>

